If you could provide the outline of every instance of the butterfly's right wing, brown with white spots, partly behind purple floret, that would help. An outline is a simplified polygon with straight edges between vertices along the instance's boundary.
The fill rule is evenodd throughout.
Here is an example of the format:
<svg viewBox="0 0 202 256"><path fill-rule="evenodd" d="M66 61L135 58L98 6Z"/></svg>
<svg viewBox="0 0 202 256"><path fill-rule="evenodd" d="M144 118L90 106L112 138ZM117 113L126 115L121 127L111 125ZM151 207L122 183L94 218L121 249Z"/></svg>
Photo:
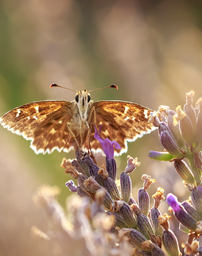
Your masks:
<svg viewBox="0 0 202 256"><path fill-rule="evenodd" d="M156 129L148 122L152 110L139 104L127 101L97 101L93 103L96 113L96 125L102 124L101 136L103 139L117 141L121 150L116 150L115 155L127 152L127 141L135 141ZM92 150L100 151L100 143L93 138L94 125L91 126L90 144ZM86 143L86 142L85 142ZM85 144L86 146L86 144Z"/></svg>

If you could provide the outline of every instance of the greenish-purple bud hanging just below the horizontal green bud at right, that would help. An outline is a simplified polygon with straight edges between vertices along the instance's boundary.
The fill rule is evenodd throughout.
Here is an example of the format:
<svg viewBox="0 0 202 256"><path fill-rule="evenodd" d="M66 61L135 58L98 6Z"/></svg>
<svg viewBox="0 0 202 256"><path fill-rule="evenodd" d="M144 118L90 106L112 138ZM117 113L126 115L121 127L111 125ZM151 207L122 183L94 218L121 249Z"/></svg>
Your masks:
<svg viewBox="0 0 202 256"><path fill-rule="evenodd" d="M176 173L178 173L183 180L190 184L194 183L193 174L185 161L181 159L175 159L174 168L176 170Z"/></svg>

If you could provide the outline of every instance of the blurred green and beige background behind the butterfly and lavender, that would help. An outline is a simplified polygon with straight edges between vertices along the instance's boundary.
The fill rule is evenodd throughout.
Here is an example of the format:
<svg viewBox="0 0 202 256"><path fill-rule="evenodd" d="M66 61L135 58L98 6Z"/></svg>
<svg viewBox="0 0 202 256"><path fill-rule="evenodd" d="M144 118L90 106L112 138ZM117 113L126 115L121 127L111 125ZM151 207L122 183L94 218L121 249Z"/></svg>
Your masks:
<svg viewBox="0 0 202 256"><path fill-rule="evenodd" d="M74 92L49 89L53 82L74 90L93 90L117 84L119 90L91 93L93 100L126 100L157 110L159 105L185 104L185 93L202 96L202 2L192 1L73 1L2 0L0 2L0 116L16 106L44 99L73 100ZM0 127L0 254L52 255L31 238L31 227L47 230L43 211L32 195L42 184L61 188L65 207L70 176L60 167L74 152L36 155L24 140ZM127 155L141 166L130 175L133 197L141 176L151 175L165 195L179 201L189 194L172 163L148 159L149 150L162 151L158 132L129 143L116 158L119 174ZM96 156L99 164L105 161ZM153 200L151 198L151 206ZM168 205L162 203L161 212ZM185 241L172 218L172 230ZM11 246L12 244L12 246Z"/></svg>

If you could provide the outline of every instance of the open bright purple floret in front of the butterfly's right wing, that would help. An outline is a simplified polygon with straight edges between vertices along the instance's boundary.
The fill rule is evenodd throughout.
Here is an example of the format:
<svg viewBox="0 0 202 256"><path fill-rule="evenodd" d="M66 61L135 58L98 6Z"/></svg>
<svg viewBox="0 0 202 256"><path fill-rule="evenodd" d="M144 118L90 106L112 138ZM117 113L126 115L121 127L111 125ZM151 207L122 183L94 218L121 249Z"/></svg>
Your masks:
<svg viewBox="0 0 202 256"><path fill-rule="evenodd" d="M101 128L101 127L102 127L102 126L100 125L100 126L99 126L99 131L100 131L100 128ZM117 150L121 150L120 145L119 145L118 142L116 142L115 140L111 141L111 140L109 140L108 138L106 138L106 139L103 140L103 139L99 136L96 127L95 127L94 138L100 142L100 144L101 144L101 146L102 146L102 148L103 148L103 151L105 152L105 155L106 155L106 157L107 157L108 159L109 159L109 158L110 158L110 159L113 159L113 158L114 158L114 146L115 146L115 148L116 148Z"/></svg>

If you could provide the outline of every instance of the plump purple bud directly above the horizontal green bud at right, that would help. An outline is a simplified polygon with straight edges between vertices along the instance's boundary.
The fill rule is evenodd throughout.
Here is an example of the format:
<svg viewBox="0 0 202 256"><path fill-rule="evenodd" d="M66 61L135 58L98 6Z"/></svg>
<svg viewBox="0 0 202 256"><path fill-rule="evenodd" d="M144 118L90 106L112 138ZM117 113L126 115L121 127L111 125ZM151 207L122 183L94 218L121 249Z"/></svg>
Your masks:
<svg viewBox="0 0 202 256"><path fill-rule="evenodd" d="M173 138L167 131L161 133L161 144L165 148L165 150L174 156L181 156L182 153L179 150L179 147L174 142Z"/></svg>

